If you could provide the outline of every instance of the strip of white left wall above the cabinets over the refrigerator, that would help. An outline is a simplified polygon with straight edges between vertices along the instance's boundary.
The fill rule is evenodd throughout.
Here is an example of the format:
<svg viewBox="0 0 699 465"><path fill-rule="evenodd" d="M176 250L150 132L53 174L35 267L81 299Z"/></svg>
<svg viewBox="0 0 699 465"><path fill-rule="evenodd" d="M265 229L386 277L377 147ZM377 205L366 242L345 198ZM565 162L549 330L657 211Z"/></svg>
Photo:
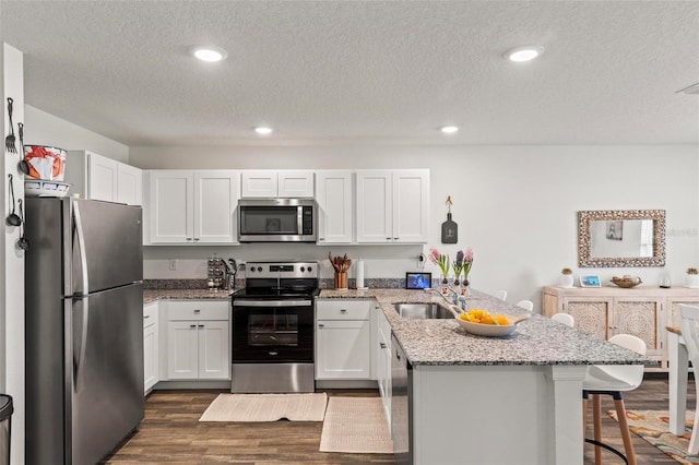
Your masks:
<svg viewBox="0 0 699 465"><path fill-rule="evenodd" d="M38 108L25 107L24 142L36 145L52 145L67 151L85 150L128 163L129 147L111 139L83 129L72 122L57 118Z"/></svg>

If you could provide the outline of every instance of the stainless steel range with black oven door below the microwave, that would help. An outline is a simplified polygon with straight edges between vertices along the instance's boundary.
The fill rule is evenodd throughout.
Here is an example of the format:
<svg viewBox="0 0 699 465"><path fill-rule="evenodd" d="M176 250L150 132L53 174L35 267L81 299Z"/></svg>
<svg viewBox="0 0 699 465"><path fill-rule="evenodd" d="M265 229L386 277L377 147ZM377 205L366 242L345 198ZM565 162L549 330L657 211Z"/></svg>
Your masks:
<svg viewBox="0 0 699 465"><path fill-rule="evenodd" d="M249 262L233 294L235 393L313 392L316 262Z"/></svg>

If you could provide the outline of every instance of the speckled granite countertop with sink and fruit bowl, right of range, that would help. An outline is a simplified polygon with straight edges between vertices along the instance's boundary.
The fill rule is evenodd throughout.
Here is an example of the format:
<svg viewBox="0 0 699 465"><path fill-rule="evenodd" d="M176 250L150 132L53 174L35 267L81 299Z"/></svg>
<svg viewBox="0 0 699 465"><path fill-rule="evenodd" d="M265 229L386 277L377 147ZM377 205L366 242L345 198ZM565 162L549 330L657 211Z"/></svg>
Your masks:
<svg viewBox="0 0 699 465"><path fill-rule="evenodd" d="M398 314L395 302L446 300L431 289L324 289L320 299L376 298L391 330L414 366L419 365L626 365L654 363L615 344L534 313L507 337L483 337L465 332L453 320L410 320ZM525 310L487 294L472 290L466 310L519 317Z"/></svg>

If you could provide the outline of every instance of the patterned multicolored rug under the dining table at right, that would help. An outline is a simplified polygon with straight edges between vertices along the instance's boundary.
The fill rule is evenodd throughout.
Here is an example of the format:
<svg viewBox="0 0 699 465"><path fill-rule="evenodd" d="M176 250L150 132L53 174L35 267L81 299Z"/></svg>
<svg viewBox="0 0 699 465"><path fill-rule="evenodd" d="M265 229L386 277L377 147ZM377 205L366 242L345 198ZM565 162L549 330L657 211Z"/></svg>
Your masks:
<svg viewBox="0 0 699 465"><path fill-rule="evenodd" d="M607 410L607 415L616 420L616 412ZM667 410L626 410L629 429L650 442L680 464L699 464L699 455L687 454L695 413L687 410L685 417L685 434L675 436L670 432L670 414Z"/></svg>

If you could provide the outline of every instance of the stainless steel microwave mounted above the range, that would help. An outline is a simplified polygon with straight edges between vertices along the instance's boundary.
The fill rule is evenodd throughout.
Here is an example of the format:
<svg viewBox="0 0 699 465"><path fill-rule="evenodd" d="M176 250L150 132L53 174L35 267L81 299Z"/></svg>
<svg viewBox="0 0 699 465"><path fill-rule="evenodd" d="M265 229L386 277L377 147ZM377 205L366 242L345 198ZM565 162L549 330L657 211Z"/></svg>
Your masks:
<svg viewBox="0 0 699 465"><path fill-rule="evenodd" d="M315 242L312 199L242 199L238 202L240 242Z"/></svg>

